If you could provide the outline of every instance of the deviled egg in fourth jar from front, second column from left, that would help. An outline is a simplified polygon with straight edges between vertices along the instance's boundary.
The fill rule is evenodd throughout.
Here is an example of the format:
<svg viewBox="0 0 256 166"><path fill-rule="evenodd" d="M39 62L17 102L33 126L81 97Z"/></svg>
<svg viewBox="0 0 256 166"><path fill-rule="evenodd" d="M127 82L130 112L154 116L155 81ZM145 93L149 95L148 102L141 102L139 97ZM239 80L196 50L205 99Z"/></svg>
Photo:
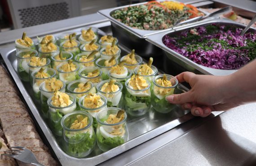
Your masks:
<svg viewBox="0 0 256 166"><path fill-rule="evenodd" d="M79 79L79 65L72 60L57 66L58 79L69 84L71 81Z"/></svg>

